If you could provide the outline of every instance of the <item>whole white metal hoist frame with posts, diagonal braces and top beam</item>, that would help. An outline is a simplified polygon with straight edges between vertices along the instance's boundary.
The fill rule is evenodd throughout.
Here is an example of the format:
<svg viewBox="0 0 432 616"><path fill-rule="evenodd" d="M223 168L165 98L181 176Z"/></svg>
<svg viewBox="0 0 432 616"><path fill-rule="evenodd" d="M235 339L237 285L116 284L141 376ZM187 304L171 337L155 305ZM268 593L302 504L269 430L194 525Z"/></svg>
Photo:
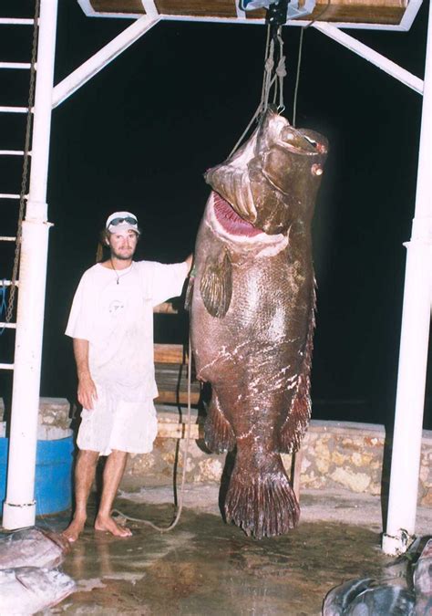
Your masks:
<svg viewBox="0 0 432 616"><path fill-rule="evenodd" d="M237 9L237 18L161 16L152 0L142 0L147 15L135 16L137 19L131 26L53 88L57 1L41 0L39 18L32 167L26 219L23 224L9 468L3 519L3 525L7 529L32 526L36 520L34 500L36 432L45 309L46 254L50 226L47 222L46 182L52 109L164 19L262 24L262 20L247 20L241 9ZM79 4L88 16L119 16L96 14L88 0L79 0ZM421 0L411 0L399 26L371 24L350 26L407 30L417 15L420 4ZM296 21L289 22L287 26L305 24L306 22ZM406 280L395 433L388 517L383 539L383 550L387 554L396 554L405 551L415 533L427 374L432 287L432 173L430 172L432 169L432 9L429 8L428 16L424 81L370 47L366 47L354 37L341 32L340 27L347 27L346 24L316 22L313 27L372 62L409 88L423 94L415 217L411 239L406 243Z"/></svg>

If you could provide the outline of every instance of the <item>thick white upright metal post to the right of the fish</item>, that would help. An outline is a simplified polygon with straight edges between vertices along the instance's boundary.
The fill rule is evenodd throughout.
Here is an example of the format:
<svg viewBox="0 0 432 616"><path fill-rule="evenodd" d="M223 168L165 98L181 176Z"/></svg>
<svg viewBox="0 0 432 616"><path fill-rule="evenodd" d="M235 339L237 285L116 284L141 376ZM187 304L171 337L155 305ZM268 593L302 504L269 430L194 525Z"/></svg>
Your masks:
<svg viewBox="0 0 432 616"><path fill-rule="evenodd" d="M432 247L432 9L418 155L416 212L406 244L406 279L397 376L390 495L383 551L404 552L414 535L430 327Z"/></svg>

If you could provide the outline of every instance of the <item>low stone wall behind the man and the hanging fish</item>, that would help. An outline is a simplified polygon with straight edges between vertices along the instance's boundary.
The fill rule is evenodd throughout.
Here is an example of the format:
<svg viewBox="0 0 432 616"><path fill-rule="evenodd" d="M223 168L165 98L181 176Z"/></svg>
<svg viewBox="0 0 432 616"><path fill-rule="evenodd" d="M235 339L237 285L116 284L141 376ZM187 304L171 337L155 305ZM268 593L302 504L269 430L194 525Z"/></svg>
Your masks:
<svg viewBox="0 0 432 616"><path fill-rule="evenodd" d="M41 399L41 426L66 430L70 414L71 405L67 400ZM121 486L125 490L139 489L143 485L170 485L174 467L180 482L186 446L186 411L179 412L176 407L168 405L159 406L158 419L159 433L153 452L129 458ZM301 487L343 487L357 493L380 495L388 490L390 461L391 440L386 438L384 426L313 420L301 452L296 454L295 464L301 468ZM231 454L208 452L203 441L201 418L196 409L192 409L187 481L220 482L225 465L228 468L231 464ZM283 464L290 473L290 455L283 455ZM432 431L423 433L418 502L432 506Z"/></svg>

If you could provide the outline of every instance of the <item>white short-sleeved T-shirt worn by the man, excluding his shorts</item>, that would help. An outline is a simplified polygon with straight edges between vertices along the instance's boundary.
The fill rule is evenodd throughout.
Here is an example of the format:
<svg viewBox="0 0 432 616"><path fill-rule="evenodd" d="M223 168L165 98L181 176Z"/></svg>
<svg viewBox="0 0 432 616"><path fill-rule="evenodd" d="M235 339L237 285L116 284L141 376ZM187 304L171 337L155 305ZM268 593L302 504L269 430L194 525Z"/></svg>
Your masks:
<svg viewBox="0 0 432 616"><path fill-rule="evenodd" d="M186 263L134 261L123 270L100 264L77 287L66 334L89 342L92 379L128 402L156 398L153 307L180 295Z"/></svg>

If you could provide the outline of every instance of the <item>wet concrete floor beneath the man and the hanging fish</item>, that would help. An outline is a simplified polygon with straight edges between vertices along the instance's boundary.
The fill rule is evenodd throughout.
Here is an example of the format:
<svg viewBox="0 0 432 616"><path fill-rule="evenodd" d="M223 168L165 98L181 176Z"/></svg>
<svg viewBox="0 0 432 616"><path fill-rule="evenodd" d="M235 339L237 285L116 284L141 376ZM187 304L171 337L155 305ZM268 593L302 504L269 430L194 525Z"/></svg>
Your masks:
<svg viewBox="0 0 432 616"><path fill-rule="evenodd" d="M305 490L300 525L257 541L224 524L218 489L188 485L180 523L166 534L129 522L133 537L117 539L89 525L63 564L77 592L44 614L320 614L328 590L345 579L382 579L395 560L380 551L379 498ZM153 487L122 493L116 506L168 526L170 503L172 490ZM37 520L66 524L66 516ZM431 528L432 510L420 508L417 533Z"/></svg>

